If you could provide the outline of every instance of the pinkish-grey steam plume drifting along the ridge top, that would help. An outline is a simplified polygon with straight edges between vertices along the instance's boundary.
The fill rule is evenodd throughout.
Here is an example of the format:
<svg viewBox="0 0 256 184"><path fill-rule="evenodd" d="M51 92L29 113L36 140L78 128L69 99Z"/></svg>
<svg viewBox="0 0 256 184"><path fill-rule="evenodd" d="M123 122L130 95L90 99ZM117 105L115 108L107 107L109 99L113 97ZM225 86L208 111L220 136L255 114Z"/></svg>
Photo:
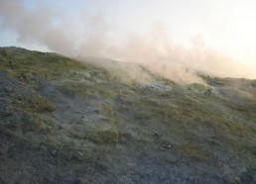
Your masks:
<svg viewBox="0 0 256 184"><path fill-rule="evenodd" d="M192 38L191 46L174 44L161 26L148 34L127 32L116 38L112 24L103 13L85 14L78 23L51 9L41 1L34 9L20 0L0 0L0 31L17 33L18 42L47 46L69 56L89 55L141 63L155 73L176 81L200 82L194 71L221 77L256 78L256 72L246 68L231 56Z"/></svg>

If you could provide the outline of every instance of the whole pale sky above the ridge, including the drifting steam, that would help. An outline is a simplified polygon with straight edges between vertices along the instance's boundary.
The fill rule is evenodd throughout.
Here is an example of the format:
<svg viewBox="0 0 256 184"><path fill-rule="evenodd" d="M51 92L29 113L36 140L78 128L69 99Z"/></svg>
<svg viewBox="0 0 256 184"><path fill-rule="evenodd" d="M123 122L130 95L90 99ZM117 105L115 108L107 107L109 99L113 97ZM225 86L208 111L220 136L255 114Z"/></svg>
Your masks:
<svg viewBox="0 0 256 184"><path fill-rule="evenodd" d="M254 0L0 0L0 46L256 78L255 7Z"/></svg>

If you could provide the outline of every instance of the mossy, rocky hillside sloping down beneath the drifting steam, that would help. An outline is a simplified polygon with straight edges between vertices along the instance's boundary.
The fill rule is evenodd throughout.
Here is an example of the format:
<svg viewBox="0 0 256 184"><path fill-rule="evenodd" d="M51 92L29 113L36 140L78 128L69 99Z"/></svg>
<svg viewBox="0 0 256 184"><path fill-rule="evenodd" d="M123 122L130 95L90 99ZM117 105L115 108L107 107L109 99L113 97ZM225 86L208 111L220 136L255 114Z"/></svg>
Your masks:
<svg viewBox="0 0 256 184"><path fill-rule="evenodd" d="M256 80L137 67L1 47L0 183L256 183Z"/></svg>

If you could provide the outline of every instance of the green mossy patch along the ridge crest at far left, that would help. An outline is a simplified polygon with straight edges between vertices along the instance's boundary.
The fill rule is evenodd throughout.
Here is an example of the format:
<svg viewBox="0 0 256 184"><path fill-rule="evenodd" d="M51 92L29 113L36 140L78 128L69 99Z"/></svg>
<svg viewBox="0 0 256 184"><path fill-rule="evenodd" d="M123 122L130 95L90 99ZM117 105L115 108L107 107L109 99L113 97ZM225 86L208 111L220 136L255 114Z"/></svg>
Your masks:
<svg viewBox="0 0 256 184"><path fill-rule="evenodd" d="M8 49L0 49L0 54L5 58L0 67L5 68L12 77L18 79L24 76L29 78L35 73L49 79L57 79L69 70L90 67L89 64L85 65L56 53L43 53L26 49L17 49L16 52L12 52Z"/></svg>

